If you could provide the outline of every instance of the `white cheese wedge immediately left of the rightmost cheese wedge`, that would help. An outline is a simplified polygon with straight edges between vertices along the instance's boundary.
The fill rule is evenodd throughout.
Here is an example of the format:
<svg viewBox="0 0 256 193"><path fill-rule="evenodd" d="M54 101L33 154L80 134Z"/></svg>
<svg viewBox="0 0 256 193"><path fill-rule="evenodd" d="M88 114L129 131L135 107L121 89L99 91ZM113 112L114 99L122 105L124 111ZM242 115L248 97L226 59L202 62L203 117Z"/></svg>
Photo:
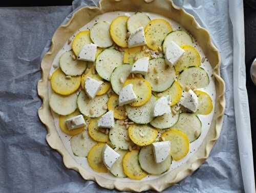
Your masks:
<svg viewBox="0 0 256 193"><path fill-rule="evenodd" d="M159 98L154 106L154 117L170 114L170 96Z"/></svg>

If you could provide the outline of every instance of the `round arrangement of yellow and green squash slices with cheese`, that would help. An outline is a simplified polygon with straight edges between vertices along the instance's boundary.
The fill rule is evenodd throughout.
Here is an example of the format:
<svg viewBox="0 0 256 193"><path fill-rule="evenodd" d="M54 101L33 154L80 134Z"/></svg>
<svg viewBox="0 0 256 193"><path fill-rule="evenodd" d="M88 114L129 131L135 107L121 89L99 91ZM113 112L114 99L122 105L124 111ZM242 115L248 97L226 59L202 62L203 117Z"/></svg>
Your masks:
<svg viewBox="0 0 256 193"><path fill-rule="evenodd" d="M193 38L136 12L77 33L49 77L49 105L75 156L99 173L141 180L186 157L214 109Z"/></svg>

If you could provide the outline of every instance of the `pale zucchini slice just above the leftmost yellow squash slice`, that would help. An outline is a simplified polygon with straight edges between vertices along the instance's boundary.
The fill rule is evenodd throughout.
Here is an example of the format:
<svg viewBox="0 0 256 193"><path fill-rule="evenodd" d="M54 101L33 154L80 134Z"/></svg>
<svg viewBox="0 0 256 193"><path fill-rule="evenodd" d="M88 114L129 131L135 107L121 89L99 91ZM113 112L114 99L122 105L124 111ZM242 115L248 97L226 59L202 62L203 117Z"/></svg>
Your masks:
<svg viewBox="0 0 256 193"><path fill-rule="evenodd" d="M59 67L63 73L69 76L81 75L87 68L87 61L74 60L73 51L63 53L59 58Z"/></svg>

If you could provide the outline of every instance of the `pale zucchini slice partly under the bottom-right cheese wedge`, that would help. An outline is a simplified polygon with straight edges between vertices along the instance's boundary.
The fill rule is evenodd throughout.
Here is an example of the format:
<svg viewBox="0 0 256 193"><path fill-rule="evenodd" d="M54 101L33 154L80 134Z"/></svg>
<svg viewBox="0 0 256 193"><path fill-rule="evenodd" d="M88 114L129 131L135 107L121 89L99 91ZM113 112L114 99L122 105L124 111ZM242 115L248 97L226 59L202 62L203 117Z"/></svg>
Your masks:
<svg viewBox="0 0 256 193"><path fill-rule="evenodd" d="M153 154L152 145L142 147L139 152L139 163L141 168L148 174L160 175L165 173L172 164L172 156L168 156L161 163L156 163Z"/></svg>

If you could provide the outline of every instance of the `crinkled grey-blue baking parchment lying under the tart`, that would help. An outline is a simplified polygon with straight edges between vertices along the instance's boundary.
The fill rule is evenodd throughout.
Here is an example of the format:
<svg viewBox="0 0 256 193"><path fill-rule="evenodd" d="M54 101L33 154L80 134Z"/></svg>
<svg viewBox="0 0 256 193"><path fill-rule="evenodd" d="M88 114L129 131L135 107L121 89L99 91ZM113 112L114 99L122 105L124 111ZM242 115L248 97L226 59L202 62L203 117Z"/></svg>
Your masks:
<svg viewBox="0 0 256 193"><path fill-rule="evenodd" d="M210 157L194 174L164 192L243 192L234 121L228 2L184 2L189 13L198 21L201 18L200 23L211 32L221 51L226 111L221 136ZM79 4L76 1L73 8ZM67 169L62 157L46 143L46 129L37 116L41 105L36 90L40 54L71 9L0 8L0 192L117 192L84 181Z"/></svg>

